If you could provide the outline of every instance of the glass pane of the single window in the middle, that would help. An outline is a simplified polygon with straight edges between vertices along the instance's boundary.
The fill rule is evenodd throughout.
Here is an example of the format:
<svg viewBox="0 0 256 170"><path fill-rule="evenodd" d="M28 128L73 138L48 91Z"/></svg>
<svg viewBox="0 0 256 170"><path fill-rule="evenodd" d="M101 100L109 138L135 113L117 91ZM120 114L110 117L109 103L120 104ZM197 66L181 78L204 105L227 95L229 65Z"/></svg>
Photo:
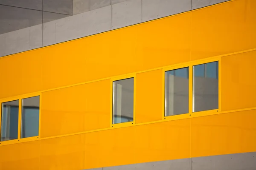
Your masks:
<svg viewBox="0 0 256 170"><path fill-rule="evenodd" d="M112 123L132 122L134 117L134 78L113 82Z"/></svg>

